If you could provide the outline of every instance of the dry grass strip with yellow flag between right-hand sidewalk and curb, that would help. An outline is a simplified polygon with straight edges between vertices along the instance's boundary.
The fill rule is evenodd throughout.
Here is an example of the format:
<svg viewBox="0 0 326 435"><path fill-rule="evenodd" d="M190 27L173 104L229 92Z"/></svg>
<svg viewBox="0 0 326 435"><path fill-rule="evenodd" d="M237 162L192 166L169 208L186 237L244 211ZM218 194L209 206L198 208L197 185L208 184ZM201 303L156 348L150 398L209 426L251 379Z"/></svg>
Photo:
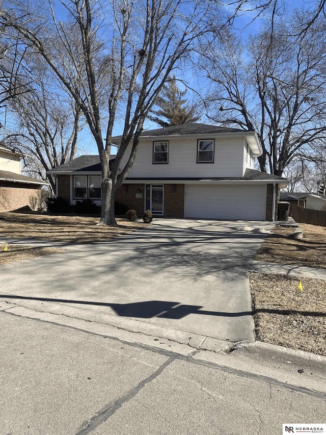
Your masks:
<svg viewBox="0 0 326 435"><path fill-rule="evenodd" d="M326 356L326 280L249 273L257 340Z"/></svg>

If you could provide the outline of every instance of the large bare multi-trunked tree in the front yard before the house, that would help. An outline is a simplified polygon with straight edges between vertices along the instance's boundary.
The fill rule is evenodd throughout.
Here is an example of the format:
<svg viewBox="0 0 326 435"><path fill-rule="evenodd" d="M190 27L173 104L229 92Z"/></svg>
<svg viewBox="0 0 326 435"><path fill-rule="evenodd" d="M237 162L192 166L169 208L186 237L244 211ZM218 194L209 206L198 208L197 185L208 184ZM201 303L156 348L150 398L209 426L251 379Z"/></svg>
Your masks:
<svg viewBox="0 0 326 435"><path fill-rule="evenodd" d="M230 2L232 12L226 16L226 8L206 0L61 0L65 22L56 18L52 0L3 7L0 21L44 59L86 117L101 161L99 224L116 225L115 193L132 166L144 120L168 76L188 65L248 3ZM71 33L78 35L78 43ZM78 89L72 80L76 76ZM122 138L110 173L113 127L121 114ZM128 160L119 174L129 144Z"/></svg>

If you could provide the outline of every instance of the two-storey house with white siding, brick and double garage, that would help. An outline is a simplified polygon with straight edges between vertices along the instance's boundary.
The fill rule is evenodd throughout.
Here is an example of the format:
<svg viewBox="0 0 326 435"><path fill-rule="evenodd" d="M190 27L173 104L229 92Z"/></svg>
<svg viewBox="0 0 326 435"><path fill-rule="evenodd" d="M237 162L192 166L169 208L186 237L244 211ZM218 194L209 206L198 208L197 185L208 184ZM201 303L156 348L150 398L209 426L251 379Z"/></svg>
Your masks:
<svg viewBox="0 0 326 435"><path fill-rule="evenodd" d="M118 147L120 140L113 138ZM253 169L261 152L257 134L239 129L193 123L143 131L116 200L139 216L151 210L176 218L275 220L278 189L287 180ZM98 156L79 157L49 173L56 175L58 196L100 205Z"/></svg>

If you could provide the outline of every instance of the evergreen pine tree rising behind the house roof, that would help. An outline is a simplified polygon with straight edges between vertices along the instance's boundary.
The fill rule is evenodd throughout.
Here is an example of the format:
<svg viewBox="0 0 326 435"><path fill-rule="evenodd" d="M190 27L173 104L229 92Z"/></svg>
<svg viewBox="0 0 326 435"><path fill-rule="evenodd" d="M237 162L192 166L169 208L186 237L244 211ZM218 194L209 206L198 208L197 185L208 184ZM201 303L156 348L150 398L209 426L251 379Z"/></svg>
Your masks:
<svg viewBox="0 0 326 435"><path fill-rule="evenodd" d="M188 100L183 98L186 92L186 89L181 91L178 88L176 78L173 76L155 100L155 106L159 108L151 111L155 116L149 115L148 118L161 127L198 121L200 117L196 116L195 106L187 104Z"/></svg>

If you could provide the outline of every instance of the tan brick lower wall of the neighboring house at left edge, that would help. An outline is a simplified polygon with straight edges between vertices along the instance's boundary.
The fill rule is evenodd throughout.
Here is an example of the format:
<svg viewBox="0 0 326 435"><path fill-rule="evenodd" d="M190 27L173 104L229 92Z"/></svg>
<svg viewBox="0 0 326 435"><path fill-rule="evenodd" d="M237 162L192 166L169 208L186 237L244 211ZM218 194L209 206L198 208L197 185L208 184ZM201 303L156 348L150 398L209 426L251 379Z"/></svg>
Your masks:
<svg viewBox="0 0 326 435"><path fill-rule="evenodd" d="M20 183L0 184L0 212L11 212L21 207L30 206L30 198L39 191L35 185Z"/></svg>

